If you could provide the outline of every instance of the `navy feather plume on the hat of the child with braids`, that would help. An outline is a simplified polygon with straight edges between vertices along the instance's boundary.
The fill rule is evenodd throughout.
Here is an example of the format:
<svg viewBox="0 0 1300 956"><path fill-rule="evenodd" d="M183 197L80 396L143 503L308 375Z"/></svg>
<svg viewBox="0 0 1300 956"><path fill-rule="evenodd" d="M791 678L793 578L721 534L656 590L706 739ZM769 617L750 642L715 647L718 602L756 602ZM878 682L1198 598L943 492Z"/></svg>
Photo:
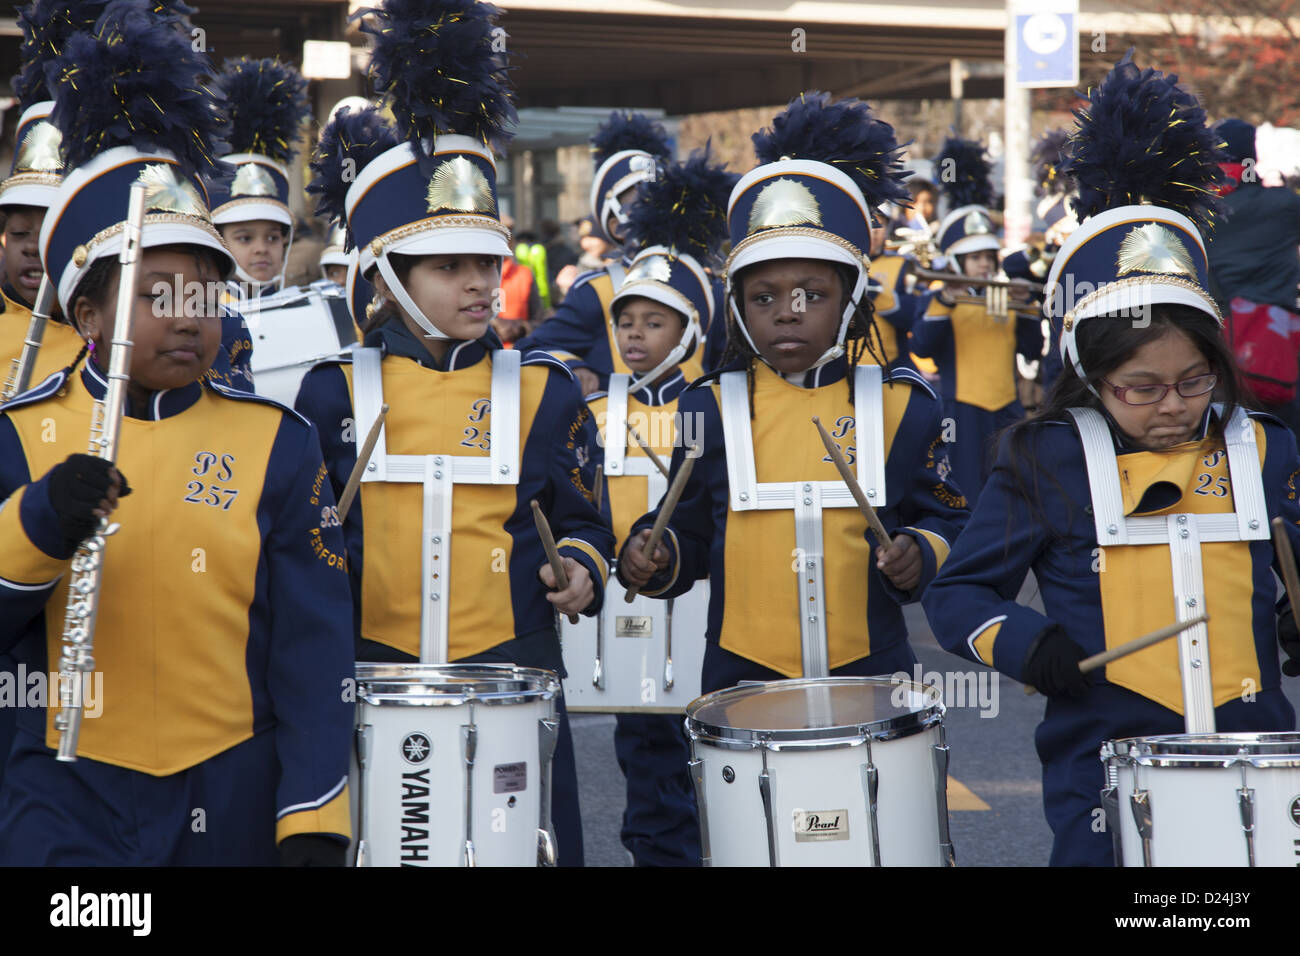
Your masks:
<svg viewBox="0 0 1300 956"><path fill-rule="evenodd" d="M902 185L902 147L893 126L878 120L858 99L831 101L831 94L801 94L753 137L759 163L783 157L826 163L845 173L871 208L881 203L911 206Z"/></svg>

